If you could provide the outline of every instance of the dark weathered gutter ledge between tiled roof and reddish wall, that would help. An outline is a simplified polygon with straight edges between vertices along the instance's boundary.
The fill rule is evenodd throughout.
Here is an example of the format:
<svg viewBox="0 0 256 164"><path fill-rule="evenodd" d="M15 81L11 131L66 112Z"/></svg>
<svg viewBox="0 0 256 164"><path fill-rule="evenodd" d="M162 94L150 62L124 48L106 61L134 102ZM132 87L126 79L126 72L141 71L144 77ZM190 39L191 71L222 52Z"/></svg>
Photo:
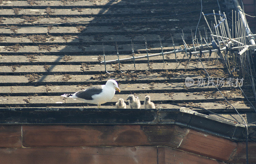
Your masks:
<svg viewBox="0 0 256 164"><path fill-rule="evenodd" d="M159 125L174 124L215 136L245 140L245 126L196 111L173 109L98 109L98 108L1 108L2 125L13 124L90 124ZM256 141L256 126L248 126L249 141Z"/></svg>

